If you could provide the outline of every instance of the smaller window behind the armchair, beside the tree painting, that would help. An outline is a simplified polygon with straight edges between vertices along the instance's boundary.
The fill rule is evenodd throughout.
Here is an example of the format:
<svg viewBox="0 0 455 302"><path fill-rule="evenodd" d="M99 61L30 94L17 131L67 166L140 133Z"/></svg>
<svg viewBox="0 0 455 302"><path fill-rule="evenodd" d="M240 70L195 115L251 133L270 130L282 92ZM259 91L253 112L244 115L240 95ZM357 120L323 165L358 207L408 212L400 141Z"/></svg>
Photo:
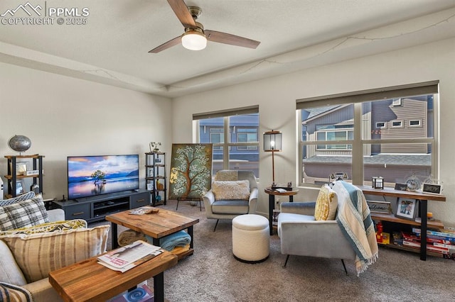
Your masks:
<svg viewBox="0 0 455 302"><path fill-rule="evenodd" d="M259 107L193 115L197 142L213 143L213 170L252 170L259 178Z"/></svg>

